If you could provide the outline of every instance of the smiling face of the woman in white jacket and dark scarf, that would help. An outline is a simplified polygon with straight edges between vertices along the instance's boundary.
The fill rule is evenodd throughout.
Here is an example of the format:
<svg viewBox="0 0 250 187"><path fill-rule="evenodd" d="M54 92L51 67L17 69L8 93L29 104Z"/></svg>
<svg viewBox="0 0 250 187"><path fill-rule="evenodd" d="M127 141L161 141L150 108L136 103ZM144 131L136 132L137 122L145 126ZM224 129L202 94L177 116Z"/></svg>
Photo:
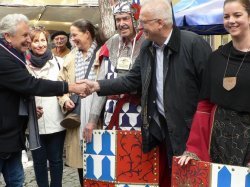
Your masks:
<svg viewBox="0 0 250 187"><path fill-rule="evenodd" d="M43 55L48 48L48 42L46 40L46 36L43 32L37 33L32 42L31 42L31 50L36 56Z"/></svg>

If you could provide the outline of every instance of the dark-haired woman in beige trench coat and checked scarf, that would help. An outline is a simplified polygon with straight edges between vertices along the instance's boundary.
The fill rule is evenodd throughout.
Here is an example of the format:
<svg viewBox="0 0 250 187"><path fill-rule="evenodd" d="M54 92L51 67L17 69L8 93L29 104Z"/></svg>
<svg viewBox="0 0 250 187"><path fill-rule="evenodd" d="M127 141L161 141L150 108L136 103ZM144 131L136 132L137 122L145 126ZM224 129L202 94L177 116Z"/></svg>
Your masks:
<svg viewBox="0 0 250 187"><path fill-rule="evenodd" d="M105 42L102 32L90 21L79 19L70 26L70 35L75 48L66 56L59 80L68 81L68 83L74 83L84 78L95 80L99 70L99 64L96 61L99 54L98 49ZM88 121L91 102L92 95L81 99L81 116L76 119L81 125L75 128L66 127L66 164L78 169L81 186L83 185L83 154L81 151L83 137L81 132L83 131L82 124L86 124ZM70 99L69 94L59 97L59 104L65 113L75 108L75 103ZM69 126L67 121L64 122L63 126Z"/></svg>

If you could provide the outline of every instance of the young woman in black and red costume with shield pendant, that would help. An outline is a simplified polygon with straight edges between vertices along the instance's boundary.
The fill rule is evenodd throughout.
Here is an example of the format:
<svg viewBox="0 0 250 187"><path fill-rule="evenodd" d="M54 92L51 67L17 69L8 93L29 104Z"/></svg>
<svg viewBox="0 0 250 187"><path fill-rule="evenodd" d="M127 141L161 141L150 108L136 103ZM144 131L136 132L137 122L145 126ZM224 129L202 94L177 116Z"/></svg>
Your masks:
<svg viewBox="0 0 250 187"><path fill-rule="evenodd" d="M225 0L224 27L232 41L210 56L180 165L191 159L250 165L249 0Z"/></svg>

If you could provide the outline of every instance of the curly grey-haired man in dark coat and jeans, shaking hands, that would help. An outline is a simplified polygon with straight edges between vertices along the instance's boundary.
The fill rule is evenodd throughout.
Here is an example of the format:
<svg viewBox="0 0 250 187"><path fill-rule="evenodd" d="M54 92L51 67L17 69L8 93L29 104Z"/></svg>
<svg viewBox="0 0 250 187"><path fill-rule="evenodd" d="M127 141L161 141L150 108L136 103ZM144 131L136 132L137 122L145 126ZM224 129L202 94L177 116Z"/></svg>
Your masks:
<svg viewBox="0 0 250 187"><path fill-rule="evenodd" d="M0 173L7 186L23 186L21 153L25 148L27 125L34 148L37 138L35 95L55 96L86 91L82 84L36 79L26 69L29 20L22 14L9 14L0 21ZM31 131L30 131L31 132Z"/></svg>

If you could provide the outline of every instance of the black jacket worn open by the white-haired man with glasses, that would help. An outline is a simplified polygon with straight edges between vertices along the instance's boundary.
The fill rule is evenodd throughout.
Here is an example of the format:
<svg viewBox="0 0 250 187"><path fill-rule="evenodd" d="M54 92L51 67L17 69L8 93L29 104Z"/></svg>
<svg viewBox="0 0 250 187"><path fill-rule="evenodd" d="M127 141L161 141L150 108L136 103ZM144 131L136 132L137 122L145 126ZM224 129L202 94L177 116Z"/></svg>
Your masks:
<svg viewBox="0 0 250 187"><path fill-rule="evenodd" d="M164 49L164 110L174 155L185 150L196 110L202 74L211 48L202 37L174 27ZM99 81L100 95L142 90L143 150L150 151L163 140L161 128L148 114L148 94L155 52L152 42L145 41L130 72L118 79Z"/></svg>

